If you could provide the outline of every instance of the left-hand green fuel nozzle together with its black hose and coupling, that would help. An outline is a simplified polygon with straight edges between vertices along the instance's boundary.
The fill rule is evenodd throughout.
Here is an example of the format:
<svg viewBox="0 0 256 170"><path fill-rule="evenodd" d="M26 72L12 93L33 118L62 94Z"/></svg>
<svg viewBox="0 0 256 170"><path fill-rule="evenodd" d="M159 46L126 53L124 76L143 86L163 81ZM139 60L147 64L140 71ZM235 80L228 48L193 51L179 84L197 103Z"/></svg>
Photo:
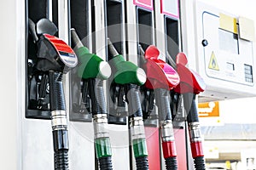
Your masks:
<svg viewBox="0 0 256 170"><path fill-rule="evenodd" d="M96 157L101 170L111 170L112 150L108 133L107 105L104 97L103 80L111 75L111 68L96 54L90 54L74 29L71 30L75 52L79 57L79 77L83 81L83 98L90 98L90 112L93 115ZM86 100L83 99L83 100Z"/></svg>

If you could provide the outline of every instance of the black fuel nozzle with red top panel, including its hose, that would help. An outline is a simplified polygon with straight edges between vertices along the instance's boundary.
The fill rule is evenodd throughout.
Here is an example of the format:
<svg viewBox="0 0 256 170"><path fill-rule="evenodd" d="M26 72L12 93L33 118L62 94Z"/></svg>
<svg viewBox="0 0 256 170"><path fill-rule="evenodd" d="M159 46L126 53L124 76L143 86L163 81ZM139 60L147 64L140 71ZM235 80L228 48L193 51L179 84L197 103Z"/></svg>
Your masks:
<svg viewBox="0 0 256 170"><path fill-rule="evenodd" d="M55 169L67 170L69 168L69 148L62 76L78 64L78 59L73 49L66 42L53 36L57 28L50 20L41 19L37 25L29 20L29 29L34 42L38 46L38 60L35 69L43 75L44 83L48 82L46 77L49 77L49 104L55 151ZM41 89L46 90L46 88ZM44 92L40 94L44 96Z"/></svg>

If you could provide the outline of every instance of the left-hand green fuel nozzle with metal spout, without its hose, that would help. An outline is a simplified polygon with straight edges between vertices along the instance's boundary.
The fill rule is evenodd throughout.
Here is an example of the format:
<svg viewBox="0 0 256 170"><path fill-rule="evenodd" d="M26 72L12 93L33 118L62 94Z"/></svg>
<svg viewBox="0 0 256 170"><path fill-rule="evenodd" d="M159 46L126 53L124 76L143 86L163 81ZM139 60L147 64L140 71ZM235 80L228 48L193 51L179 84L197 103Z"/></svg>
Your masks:
<svg viewBox="0 0 256 170"><path fill-rule="evenodd" d="M81 78L108 79L111 76L111 67L108 62L101 59L96 54L90 54L88 48L84 47L74 29L71 29L74 51L79 57L78 75Z"/></svg>

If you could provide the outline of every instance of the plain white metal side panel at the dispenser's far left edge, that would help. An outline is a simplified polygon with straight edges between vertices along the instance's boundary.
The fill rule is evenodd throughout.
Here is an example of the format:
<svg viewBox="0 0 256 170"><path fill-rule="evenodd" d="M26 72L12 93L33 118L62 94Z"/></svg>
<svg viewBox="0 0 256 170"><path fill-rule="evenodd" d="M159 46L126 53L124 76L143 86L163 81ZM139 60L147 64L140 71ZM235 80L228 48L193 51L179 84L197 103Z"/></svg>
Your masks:
<svg viewBox="0 0 256 170"><path fill-rule="evenodd" d="M17 84L17 59L19 57L20 30L18 26L19 15L16 7L20 5L15 0L10 0L1 4L1 58L3 65L0 68L0 108L2 118L0 119L0 162L3 169L17 169L20 166L20 142L18 142L18 84ZM20 12L20 10L19 10ZM8 16L8 17L7 17Z"/></svg>

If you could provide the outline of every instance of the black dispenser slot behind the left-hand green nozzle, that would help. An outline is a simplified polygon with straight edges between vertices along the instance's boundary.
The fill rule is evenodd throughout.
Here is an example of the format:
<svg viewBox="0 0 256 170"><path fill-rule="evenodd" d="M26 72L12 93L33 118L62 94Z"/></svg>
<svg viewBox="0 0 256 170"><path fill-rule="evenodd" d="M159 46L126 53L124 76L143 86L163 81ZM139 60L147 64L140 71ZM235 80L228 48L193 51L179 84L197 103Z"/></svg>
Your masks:
<svg viewBox="0 0 256 170"><path fill-rule="evenodd" d="M70 1L71 28L74 28L83 45L89 49L91 41L91 29L93 26L93 5L88 0ZM77 48L72 44L72 48ZM78 67L70 71L70 114L69 120L73 122L92 122L90 113L90 101L82 99L82 79L78 76Z"/></svg>

